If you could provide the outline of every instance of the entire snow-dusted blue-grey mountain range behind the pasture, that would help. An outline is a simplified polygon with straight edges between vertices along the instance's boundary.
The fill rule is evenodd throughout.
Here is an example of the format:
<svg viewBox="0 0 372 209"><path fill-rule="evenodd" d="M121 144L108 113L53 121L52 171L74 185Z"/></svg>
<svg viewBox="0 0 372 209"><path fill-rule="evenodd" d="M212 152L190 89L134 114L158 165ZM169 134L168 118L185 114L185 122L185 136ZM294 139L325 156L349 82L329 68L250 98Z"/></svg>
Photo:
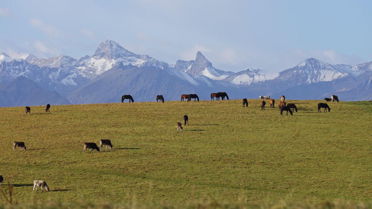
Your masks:
<svg viewBox="0 0 372 209"><path fill-rule="evenodd" d="M17 80L20 76L36 82L37 86L28 80ZM282 94L292 99L323 99L338 94L341 100L362 100L372 98L367 92L371 90L371 79L372 62L331 65L310 58L280 73L251 68L233 73L214 68L201 52L197 52L195 60L178 60L169 65L148 55L130 52L111 40L102 42L92 56L78 60L65 55L39 59L32 54L15 58L0 54L3 88L11 89L12 85L25 81L23 87L46 90L43 94L52 95L48 98L57 103L67 101L59 95L78 104L120 102L124 94L131 94L135 101L153 101L157 94L163 94L166 100L178 100L180 94L189 93L210 99L210 93L218 91L228 92L232 99ZM5 87L7 84L12 85ZM3 98L15 105L21 104L11 99L9 92L20 96L15 91L3 91ZM29 103L31 96L35 104L40 100L31 93L22 96L22 100Z"/></svg>

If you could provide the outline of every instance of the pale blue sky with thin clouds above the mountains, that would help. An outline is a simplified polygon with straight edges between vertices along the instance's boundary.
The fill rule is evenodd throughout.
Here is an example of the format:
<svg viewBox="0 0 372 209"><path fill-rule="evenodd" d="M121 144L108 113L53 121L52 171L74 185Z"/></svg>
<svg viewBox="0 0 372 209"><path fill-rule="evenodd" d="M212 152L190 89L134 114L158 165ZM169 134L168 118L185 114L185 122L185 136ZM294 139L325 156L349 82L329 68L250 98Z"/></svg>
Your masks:
<svg viewBox="0 0 372 209"><path fill-rule="evenodd" d="M93 55L107 39L174 64L201 51L226 71L314 57L372 61L372 1L0 1L0 52Z"/></svg>

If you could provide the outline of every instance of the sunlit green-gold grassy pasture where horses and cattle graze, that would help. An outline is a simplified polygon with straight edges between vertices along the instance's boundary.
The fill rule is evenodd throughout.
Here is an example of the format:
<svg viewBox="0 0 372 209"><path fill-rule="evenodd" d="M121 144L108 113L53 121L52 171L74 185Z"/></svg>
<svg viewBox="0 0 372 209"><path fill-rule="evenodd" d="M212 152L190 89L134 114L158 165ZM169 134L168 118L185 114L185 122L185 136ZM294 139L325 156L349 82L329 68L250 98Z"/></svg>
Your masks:
<svg viewBox="0 0 372 209"><path fill-rule="evenodd" d="M276 101L266 110L260 100L0 108L2 189L13 184L19 203L370 202L372 101L318 113L324 100L288 100L293 116ZM185 114L190 125L177 132ZM83 153L100 139L113 149ZM51 191L32 192L33 180Z"/></svg>

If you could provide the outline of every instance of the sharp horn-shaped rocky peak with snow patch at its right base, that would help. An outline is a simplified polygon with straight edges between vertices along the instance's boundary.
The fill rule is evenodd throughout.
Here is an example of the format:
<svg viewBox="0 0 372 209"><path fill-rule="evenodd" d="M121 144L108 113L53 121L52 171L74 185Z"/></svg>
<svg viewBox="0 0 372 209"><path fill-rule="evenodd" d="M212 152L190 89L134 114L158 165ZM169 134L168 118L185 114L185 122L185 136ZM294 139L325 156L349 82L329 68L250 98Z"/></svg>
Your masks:
<svg viewBox="0 0 372 209"><path fill-rule="evenodd" d="M213 67L212 63L209 62L201 52L196 53L195 61L182 61L176 62L174 67L177 70L181 70L190 75L204 75L211 79L222 80L223 75L227 76L234 72L218 70Z"/></svg>

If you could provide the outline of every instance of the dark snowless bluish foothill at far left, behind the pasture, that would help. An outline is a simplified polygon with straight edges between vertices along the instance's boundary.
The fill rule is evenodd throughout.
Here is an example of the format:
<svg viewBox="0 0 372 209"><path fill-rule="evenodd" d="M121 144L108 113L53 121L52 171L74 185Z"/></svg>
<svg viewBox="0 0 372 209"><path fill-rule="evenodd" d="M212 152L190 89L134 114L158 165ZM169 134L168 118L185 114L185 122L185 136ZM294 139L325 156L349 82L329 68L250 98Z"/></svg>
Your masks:
<svg viewBox="0 0 372 209"><path fill-rule="evenodd" d="M20 76L0 84L0 106L69 105L56 91L42 89L36 82Z"/></svg>

